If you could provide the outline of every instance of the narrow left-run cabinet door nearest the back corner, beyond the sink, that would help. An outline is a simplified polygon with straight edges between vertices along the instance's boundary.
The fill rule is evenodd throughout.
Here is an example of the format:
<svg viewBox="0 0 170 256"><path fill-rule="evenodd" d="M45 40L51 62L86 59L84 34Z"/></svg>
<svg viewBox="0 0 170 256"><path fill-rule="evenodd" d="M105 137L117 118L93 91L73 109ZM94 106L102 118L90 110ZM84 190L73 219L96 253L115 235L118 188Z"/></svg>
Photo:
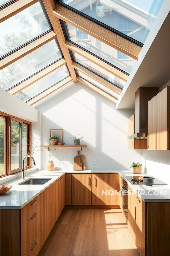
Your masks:
<svg viewBox="0 0 170 256"><path fill-rule="evenodd" d="M58 180L58 216L65 207L65 174Z"/></svg>

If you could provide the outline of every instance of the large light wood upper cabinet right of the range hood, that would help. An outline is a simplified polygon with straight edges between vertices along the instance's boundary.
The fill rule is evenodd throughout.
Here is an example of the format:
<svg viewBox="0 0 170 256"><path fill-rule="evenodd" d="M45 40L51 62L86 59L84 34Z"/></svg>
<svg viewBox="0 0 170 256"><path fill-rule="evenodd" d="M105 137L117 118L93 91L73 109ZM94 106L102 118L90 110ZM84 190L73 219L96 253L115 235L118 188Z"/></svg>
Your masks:
<svg viewBox="0 0 170 256"><path fill-rule="evenodd" d="M170 87L148 102L148 149L170 150Z"/></svg>

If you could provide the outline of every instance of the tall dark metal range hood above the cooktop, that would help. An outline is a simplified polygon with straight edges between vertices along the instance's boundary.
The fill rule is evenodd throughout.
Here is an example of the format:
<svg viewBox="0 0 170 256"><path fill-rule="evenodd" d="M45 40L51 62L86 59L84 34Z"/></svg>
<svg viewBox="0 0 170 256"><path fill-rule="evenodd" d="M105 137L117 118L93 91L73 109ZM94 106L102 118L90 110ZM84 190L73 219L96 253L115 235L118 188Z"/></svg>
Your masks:
<svg viewBox="0 0 170 256"><path fill-rule="evenodd" d="M148 138L148 101L159 93L159 87L139 87L135 92L135 134L127 139Z"/></svg>

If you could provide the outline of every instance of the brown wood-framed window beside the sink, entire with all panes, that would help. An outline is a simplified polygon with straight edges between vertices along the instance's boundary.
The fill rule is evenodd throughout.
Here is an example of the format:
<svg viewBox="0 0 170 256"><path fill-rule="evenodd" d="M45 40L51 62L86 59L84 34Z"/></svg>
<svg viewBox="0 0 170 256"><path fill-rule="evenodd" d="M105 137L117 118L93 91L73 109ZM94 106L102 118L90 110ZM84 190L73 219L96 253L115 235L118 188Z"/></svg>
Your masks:
<svg viewBox="0 0 170 256"><path fill-rule="evenodd" d="M22 170L24 156L31 153L31 123L0 113L0 176ZM31 168L31 159L24 162Z"/></svg>

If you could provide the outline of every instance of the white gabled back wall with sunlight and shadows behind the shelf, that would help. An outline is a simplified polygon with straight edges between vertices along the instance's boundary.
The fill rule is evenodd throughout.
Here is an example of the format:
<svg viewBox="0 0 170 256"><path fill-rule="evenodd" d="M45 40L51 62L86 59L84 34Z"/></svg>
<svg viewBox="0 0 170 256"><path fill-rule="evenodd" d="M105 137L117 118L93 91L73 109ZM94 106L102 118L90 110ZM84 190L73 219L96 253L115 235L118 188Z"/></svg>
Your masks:
<svg viewBox="0 0 170 256"><path fill-rule="evenodd" d="M81 154L86 157L86 169L129 169L131 162L142 161L139 153L128 149L128 118L133 110L116 110L116 105L94 90L70 82L53 95L35 105L41 111L41 144L48 144L50 129L63 129L63 142L69 137L84 135L87 144ZM78 148L57 148L55 169L73 169ZM41 152L41 168L46 169L48 151ZM92 160L98 160L93 165Z"/></svg>

